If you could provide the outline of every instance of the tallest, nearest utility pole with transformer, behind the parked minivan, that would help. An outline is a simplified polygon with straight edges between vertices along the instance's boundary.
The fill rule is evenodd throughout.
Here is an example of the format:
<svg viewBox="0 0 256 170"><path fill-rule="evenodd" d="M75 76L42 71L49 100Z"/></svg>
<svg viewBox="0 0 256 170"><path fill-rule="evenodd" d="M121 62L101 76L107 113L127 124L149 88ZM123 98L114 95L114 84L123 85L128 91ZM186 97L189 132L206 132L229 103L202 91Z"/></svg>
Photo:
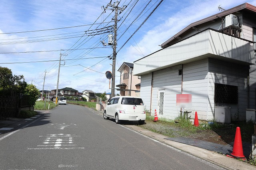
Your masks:
<svg viewBox="0 0 256 170"><path fill-rule="evenodd" d="M112 59L113 59L113 62L112 62L112 83L111 83L111 97L114 97L115 96L115 75L116 75L116 45L117 45L117 42L116 42L116 32L117 32L117 22L118 22L117 16L118 16L118 10L120 10L120 13L121 13L122 11L125 10L125 8L127 6L124 5L122 8L118 7L119 2L117 0L116 0L116 2L113 2L113 4L111 4L111 3L112 3L112 0L110 0L110 3L106 6L106 8L104 8L104 6L103 6L103 8L104 8L104 11L106 9L108 9L108 10L115 10L113 57L112 57ZM112 7L112 8L108 8L109 6Z"/></svg>

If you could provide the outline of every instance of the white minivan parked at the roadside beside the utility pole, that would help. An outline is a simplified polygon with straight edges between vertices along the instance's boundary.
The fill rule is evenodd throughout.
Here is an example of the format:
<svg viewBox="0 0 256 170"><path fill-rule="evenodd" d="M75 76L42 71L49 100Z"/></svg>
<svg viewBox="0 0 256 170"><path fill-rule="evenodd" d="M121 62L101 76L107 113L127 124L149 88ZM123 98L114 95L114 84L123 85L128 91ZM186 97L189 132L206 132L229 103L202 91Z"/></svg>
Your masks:
<svg viewBox="0 0 256 170"><path fill-rule="evenodd" d="M104 119L113 118L116 123L121 120L138 121L139 124L144 124L146 120L146 112L141 98L134 96L116 96L113 97L106 106Z"/></svg>

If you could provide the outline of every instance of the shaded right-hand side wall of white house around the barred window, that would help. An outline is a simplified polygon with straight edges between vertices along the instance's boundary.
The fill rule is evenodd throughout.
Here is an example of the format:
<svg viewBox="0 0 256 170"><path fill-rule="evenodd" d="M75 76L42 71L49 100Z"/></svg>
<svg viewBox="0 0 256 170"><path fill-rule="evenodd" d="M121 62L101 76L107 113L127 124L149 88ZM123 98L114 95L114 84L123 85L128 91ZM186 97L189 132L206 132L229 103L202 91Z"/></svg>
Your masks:
<svg viewBox="0 0 256 170"><path fill-rule="evenodd" d="M247 66L209 58L209 105L231 107L232 120L245 120L247 108ZM214 103L214 83L238 86L238 104ZM210 109L210 108L209 108Z"/></svg>

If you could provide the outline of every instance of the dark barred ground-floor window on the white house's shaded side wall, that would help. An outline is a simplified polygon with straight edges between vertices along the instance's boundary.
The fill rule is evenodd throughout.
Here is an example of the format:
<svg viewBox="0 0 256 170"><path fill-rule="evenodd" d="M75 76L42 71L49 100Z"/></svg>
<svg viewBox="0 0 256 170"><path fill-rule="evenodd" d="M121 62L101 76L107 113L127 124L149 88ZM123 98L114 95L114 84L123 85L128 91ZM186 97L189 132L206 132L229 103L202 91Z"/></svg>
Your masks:
<svg viewBox="0 0 256 170"><path fill-rule="evenodd" d="M238 87L234 85L224 85L215 83L214 90L214 102L215 103L238 103Z"/></svg>

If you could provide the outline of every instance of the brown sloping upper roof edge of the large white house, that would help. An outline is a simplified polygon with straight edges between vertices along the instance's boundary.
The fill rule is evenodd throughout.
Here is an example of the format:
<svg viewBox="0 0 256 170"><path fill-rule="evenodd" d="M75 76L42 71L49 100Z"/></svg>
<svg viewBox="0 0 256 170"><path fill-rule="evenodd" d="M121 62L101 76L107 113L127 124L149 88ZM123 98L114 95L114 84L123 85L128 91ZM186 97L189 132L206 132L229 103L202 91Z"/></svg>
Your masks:
<svg viewBox="0 0 256 170"><path fill-rule="evenodd" d="M241 4L241 5L238 5L234 8L230 8L230 9L222 11L218 14L215 14L215 15L209 16L207 18L204 18L202 20L193 22L192 24L186 26L183 30L181 30L180 32L178 32L177 34L172 36L169 40L162 43L161 47L165 48L165 47L168 47L168 46L172 45L172 43L174 43L175 40L178 40L177 37L180 37L181 34L187 32L188 30L192 29L193 27L195 27L197 25L200 25L200 24L203 24L203 23L209 22L209 21L214 21L215 19L222 18L224 16L227 16L227 15L232 14L234 12L238 12L240 10L249 10L249 11L252 11L252 12L256 12L256 6L253 6L253 5L248 4L248 3L244 3L244 4Z"/></svg>

